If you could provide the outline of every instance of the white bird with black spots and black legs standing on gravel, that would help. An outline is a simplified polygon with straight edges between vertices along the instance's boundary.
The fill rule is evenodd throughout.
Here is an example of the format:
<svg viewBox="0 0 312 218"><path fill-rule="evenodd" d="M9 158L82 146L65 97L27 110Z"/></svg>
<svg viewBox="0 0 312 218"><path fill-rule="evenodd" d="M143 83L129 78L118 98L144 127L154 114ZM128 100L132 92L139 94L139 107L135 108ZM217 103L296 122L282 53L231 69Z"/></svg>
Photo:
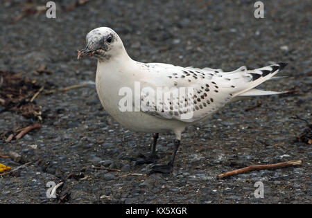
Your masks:
<svg viewBox="0 0 312 218"><path fill-rule="evenodd" d="M254 89L283 69L286 66L284 63L272 64L254 70L248 70L245 66L241 66L232 72L172 64L145 64L129 57L121 38L111 28L100 27L90 31L86 41L87 46L78 51L78 59L83 55L97 58L96 91L104 109L116 121L130 130L153 133L154 143L150 156L143 161L137 161L137 163L153 163L155 161L159 133L170 131L175 134L171 161L166 165L154 165L150 173L172 172L182 131L189 125L207 120L212 113L227 102L241 100L248 96L284 93ZM140 86L139 96L136 90L138 89L137 84ZM181 98L176 99L177 105L175 105L173 96L162 100L158 94L156 98L150 95L150 91L157 93L156 89L159 87L191 88L193 93L191 96L188 96L187 93L182 95ZM127 90L130 91L130 99L129 96L124 96ZM166 96L170 92L164 90L166 89L160 91L160 96ZM128 105L121 104L125 97L131 100L125 102ZM141 103L139 107L133 103L136 99L139 99L139 103ZM135 107L132 107L133 105ZM132 108L132 111L125 111L121 108L123 106L128 109ZM190 113L191 117L183 118L182 116L186 113Z"/></svg>

